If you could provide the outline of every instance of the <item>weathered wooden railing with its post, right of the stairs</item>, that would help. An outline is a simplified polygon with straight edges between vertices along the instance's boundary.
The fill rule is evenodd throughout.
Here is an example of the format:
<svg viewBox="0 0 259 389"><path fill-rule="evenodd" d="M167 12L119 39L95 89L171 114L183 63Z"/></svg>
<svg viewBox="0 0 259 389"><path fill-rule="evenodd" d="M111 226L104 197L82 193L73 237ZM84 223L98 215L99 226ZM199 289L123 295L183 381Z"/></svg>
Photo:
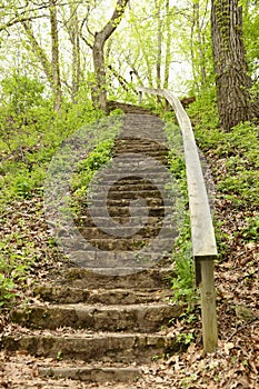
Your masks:
<svg viewBox="0 0 259 389"><path fill-rule="evenodd" d="M206 352L212 352L218 345L213 279L213 260L217 258L218 252L208 194L191 122L181 102L172 92L163 89L143 87L138 87L137 90L139 92L140 103L142 102L143 92L163 97L172 106L182 132L191 221L192 253L196 262L196 280L201 290L203 348Z"/></svg>

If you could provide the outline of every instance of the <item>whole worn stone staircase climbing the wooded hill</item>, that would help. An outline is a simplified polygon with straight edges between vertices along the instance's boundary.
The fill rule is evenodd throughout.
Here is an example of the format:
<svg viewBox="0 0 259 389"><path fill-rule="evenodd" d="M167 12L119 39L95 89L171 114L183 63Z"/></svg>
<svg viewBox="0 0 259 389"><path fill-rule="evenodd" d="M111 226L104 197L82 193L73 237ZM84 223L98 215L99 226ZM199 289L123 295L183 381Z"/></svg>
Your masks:
<svg viewBox="0 0 259 389"><path fill-rule="evenodd" d="M179 351L179 342L161 332L181 313L170 302L168 251L176 231L165 190L167 154L161 120L141 110L126 113L113 160L101 169L77 220L83 243L63 237L71 265L36 288L40 303L11 312L19 327L2 339L8 350L52 358L41 375L133 382L142 365Z"/></svg>

